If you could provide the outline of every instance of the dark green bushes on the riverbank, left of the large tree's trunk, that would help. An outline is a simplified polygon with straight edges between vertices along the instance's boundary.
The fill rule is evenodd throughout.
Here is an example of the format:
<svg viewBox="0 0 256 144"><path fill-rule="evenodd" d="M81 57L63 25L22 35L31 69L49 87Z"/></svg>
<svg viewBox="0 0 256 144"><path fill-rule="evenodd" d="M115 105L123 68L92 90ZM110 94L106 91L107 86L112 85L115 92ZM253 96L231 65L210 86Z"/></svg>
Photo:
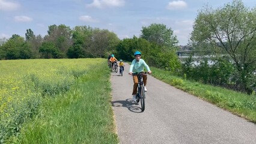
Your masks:
<svg viewBox="0 0 256 144"><path fill-rule="evenodd" d="M192 59L188 58L183 63L183 74L190 79L225 87L230 87L231 83L234 83L234 65L227 59L215 59L211 64L207 59L197 61L198 65L192 62Z"/></svg>

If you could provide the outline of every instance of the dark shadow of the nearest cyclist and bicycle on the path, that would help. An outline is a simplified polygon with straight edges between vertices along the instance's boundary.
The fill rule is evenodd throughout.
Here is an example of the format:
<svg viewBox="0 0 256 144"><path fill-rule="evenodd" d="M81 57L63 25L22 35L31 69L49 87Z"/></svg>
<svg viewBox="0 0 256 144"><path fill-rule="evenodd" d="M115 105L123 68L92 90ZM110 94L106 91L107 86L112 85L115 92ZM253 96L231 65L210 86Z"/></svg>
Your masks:
<svg viewBox="0 0 256 144"><path fill-rule="evenodd" d="M139 107L139 103L135 103L132 98L128 98L126 100L119 101L111 101L112 107L126 107L130 112L141 113L141 107Z"/></svg>

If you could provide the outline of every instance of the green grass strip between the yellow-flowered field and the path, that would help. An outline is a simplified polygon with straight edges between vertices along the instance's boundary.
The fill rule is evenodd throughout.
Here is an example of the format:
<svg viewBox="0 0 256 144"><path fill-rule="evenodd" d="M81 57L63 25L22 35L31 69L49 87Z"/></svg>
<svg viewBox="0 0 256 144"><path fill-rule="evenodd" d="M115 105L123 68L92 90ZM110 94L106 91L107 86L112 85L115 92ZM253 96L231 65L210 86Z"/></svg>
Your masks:
<svg viewBox="0 0 256 144"><path fill-rule="evenodd" d="M118 143L106 61L91 67L65 94L43 101L17 143Z"/></svg>

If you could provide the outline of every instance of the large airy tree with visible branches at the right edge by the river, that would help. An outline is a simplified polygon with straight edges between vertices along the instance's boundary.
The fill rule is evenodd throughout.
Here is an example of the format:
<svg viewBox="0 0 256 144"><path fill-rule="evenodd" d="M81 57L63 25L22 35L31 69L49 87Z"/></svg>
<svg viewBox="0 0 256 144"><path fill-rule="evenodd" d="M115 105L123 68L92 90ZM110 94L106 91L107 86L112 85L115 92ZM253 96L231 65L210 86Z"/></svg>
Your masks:
<svg viewBox="0 0 256 144"><path fill-rule="evenodd" d="M256 70L256 8L246 8L240 0L216 10L204 7L195 19L190 40L194 47L231 58L239 76L233 77L237 89L252 91L250 85L255 79L251 78Z"/></svg>

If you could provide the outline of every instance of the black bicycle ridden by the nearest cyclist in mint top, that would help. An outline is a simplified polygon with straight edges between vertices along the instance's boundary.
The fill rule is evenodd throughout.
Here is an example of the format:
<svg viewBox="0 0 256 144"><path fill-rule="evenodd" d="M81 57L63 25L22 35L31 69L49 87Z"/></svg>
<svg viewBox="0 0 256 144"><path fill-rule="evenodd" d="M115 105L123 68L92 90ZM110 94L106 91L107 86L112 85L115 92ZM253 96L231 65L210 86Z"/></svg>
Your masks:
<svg viewBox="0 0 256 144"><path fill-rule="evenodd" d="M132 76L137 76L138 77L138 91L136 94L136 103L139 103L139 100L141 100L141 110L144 112L145 110L145 88L144 88L144 83L142 81L142 75L147 75L147 73L142 72L142 73L134 73Z"/></svg>

